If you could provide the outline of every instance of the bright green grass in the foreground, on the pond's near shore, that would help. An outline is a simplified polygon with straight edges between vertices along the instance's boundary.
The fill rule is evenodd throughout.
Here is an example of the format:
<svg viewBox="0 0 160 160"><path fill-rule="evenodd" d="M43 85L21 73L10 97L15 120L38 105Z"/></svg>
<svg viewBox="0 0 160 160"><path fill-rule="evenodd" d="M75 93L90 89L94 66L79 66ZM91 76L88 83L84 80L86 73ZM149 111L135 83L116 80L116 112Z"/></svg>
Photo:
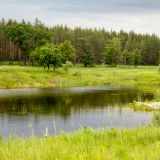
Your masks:
<svg viewBox="0 0 160 160"><path fill-rule="evenodd" d="M159 160L160 128L83 129L48 138L0 141L0 160Z"/></svg>

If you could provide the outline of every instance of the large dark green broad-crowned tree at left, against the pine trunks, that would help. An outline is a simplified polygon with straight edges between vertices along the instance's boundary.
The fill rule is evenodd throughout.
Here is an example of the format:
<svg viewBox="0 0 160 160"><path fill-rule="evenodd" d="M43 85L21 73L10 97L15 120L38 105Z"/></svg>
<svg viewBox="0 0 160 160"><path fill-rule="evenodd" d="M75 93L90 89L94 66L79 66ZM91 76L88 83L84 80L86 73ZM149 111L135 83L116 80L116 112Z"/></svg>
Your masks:
<svg viewBox="0 0 160 160"><path fill-rule="evenodd" d="M19 47L21 50L25 65L26 62L29 61L29 58L32 58L32 56L30 56L31 52L36 47L45 45L51 39L50 32L45 31L39 26L35 28L24 20L20 23L9 20L4 30L14 46Z"/></svg>

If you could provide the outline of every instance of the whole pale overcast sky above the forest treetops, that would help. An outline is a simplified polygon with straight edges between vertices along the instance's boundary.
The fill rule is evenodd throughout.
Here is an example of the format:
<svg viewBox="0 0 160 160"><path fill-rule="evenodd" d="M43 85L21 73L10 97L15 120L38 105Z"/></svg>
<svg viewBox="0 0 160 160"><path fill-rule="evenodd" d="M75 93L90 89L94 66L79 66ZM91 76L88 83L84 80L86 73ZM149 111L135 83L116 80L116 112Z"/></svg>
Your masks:
<svg viewBox="0 0 160 160"><path fill-rule="evenodd" d="M0 0L0 18L160 35L160 0Z"/></svg>

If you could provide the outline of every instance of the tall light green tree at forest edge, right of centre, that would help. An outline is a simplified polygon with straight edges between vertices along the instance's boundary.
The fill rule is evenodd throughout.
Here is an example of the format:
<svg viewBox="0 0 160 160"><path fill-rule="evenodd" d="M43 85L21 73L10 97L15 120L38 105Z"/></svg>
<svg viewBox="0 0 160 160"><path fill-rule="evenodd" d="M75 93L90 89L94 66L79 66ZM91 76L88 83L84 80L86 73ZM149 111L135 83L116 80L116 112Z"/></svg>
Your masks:
<svg viewBox="0 0 160 160"><path fill-rule="evenodd" d="M104 48L104 61L106 64L114 65L115 67L121 60L120 40L113 38Z"/></svg>

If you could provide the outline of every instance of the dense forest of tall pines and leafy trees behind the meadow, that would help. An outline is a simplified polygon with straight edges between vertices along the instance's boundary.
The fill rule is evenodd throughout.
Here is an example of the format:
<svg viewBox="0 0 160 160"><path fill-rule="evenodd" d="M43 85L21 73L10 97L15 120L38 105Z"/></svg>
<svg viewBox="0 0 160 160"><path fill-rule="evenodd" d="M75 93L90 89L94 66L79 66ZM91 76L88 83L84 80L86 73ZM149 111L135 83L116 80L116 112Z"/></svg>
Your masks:
<svg viewBox="0 0 160 160"><path fill-rule="evenodd" d="M34 23L15 20L0 21L0 61L24 61L33 64L42 59L36 51L47 53L46 48L52 48L54 56L51 64L60 61L59 51L73 54L72 57L62 58L72 63L84 66L94 64L125 65L158 65L160 63L160 38L155 34L137 34L106 31L105 29L74 29L67 26L47 27L38 19ZM58 47L59 48L58 48ZM58 49L57 49L58 48ZM49 50L48 50L49 52ZM64 55L65 56L65 55ZM64 57L63 56L63 57ZM44 57L44 56L43 56ZM46 57L46 55L45 55ZM57 61L55 62L55 59ZM40 61L40 64L49 62Z"/></svg>

